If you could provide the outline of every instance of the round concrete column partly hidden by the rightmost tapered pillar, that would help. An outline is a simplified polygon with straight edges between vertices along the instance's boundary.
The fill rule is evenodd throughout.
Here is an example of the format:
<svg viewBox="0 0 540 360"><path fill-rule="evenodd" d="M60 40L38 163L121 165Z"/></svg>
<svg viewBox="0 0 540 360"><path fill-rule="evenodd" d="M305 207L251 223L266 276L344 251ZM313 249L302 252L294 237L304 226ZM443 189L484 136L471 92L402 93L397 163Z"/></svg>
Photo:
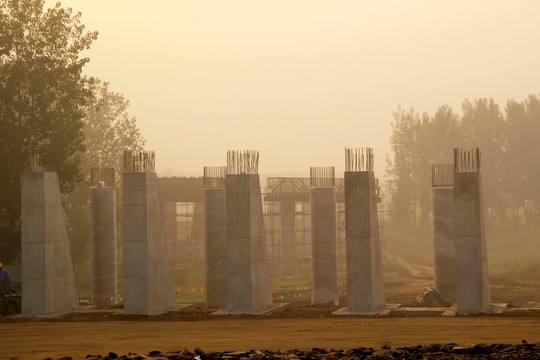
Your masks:
<svg viewBox="0 0 540 360"><path fill-rule="evenodd" d="M435 288L451 303L457 301L453 171L452 164L431 167Z"/></svg>

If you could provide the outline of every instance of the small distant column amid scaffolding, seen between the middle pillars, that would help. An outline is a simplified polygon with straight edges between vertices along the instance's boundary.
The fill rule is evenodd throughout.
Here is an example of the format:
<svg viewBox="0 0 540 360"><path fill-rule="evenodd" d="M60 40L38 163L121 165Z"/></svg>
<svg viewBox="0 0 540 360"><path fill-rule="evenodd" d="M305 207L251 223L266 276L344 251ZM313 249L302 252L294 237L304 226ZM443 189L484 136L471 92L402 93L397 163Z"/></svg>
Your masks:
<svg viewBox="0 0 540 360"><path fill-rule="evenodd" d="M295 202L280 202L281 276L297 275Z"/></svg>

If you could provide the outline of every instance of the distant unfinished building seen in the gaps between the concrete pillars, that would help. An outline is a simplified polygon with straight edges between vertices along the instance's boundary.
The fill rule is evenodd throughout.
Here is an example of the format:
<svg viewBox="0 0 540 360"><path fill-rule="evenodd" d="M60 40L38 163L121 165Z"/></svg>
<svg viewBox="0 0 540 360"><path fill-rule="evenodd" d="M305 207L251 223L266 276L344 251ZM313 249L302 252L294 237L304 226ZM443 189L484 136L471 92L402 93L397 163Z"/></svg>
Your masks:
<svg viewBox="0 0 540 360"><path fill-rule="evenodd" d="M343 178L335 179L338 271L345 272L345 203ZM204 268L204 178L159 178L169 264ZM384 201L378 187L381 240ZM262 188L264 224L272 276L311 273L310 178L268 177Z"/></svg>

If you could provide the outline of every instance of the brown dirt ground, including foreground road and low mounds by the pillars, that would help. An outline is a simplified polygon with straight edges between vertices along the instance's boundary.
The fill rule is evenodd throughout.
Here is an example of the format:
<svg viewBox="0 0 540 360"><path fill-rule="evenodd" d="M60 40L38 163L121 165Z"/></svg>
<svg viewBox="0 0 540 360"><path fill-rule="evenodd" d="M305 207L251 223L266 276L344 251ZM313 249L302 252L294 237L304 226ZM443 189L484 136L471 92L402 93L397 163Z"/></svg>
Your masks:
<svg viewBox="0 0 540 360"><path fill-rule="evenodd" d="M414 274L405 274L407 281L385 284L388 303L409 303L432 285L429 271L422 267L413 270ZM540 307L540 286L530 281L493 278L491 295L493 302ZM57 318L4 318L0 319L0 359L84 359L89 354L148 354L184 348L285 351L540 341L538 316L343 318L332 316L332 312L344 305L344 296L340 306L310 306L308 298L287 299L287 307L257 317L216 318L210 315L215 308L194 304L150 317L102 309Z"/></svg>

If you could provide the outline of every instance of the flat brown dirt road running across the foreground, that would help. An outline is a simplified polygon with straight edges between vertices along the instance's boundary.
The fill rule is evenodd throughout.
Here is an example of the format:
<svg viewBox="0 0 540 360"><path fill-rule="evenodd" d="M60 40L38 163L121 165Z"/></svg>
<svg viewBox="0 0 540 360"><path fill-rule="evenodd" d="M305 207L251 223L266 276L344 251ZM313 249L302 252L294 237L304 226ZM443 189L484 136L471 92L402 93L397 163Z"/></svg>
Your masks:
<svg viewBox="0 0 540 360"><path fill-rule="evenodd" d="M538 318L321 318L214 321L100 321L0 323L0 358L58 359L199 347L248 349L347 349L430 343L540 341Z"/></svg>

